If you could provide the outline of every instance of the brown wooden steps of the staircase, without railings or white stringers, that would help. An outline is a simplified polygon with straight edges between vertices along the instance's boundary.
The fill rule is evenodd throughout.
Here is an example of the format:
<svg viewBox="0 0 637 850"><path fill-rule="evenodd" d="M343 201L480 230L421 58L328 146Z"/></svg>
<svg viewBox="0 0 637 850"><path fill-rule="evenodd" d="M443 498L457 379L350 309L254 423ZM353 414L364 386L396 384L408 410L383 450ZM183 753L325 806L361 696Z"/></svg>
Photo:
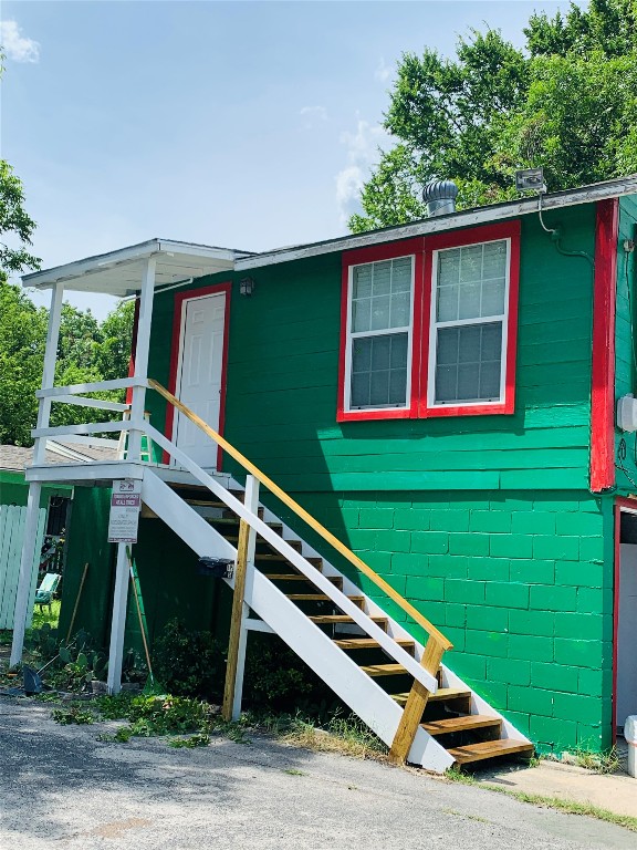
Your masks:
<svg viewBox="0 0 637 850"><path fill-rule="evenodd" d="M191 491L176 489L178 495L203 516L206 521L227 541L232 543L238 541L239 518L227 509L224 502L215 499L210 494L206 498L205 493L198 493L195 498ZM233 489L230 493L238 499L243 498L240 489ZM260 518L265 519L271 529L281 537L285 537L286 542L295 551L303 553L307 547L301 539L294 537L293 532L270 511L262 507L259 511ZM331 583L344 590L347 580L322 557L307 554L305 559L325 574ZM281 590L286 599L294 602L311 622L321 628L332 643L355 661L361 671L372 677L388 696L399 706L406 705L409 691L414 685L414 677L401 664L391 663L376 640L362 633L351 616L340 612L330 597L317 593L307 577L260 536L257 537L254 567ZM351 582L347 583L351 584ZM369 602L363 593L347 592L346 598L362 609ZM374 615L372 620L388 633L390 618ZM393 623L393 626L390 631L395 635L394 642L413 656L416 656L419 650L420 656L422 647L410 636L399 636L400 630L397 623ZM490 713L480 712L470 687L446 684L448 676L447 668L440 665L437 673L438 690L429 694L419 725L447 750L456 765L513 756L529 757L533 754L533 745L522 736L511 738L503 735L504 721L500 715L492 709Z"/></svg>

